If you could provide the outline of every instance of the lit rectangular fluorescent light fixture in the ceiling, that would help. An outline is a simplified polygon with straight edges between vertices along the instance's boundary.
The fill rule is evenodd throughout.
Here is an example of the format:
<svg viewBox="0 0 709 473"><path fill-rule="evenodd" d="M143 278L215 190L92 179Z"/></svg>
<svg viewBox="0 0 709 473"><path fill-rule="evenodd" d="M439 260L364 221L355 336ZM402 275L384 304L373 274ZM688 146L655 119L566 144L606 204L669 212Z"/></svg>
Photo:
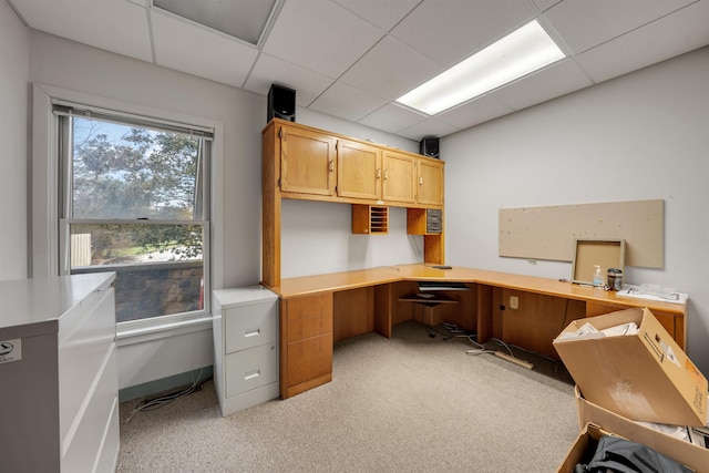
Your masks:
<svg viewBox="0 0 709 473"><path fill-rule="evenodd" d="M397 102L435 115L562 58L562 50L534 20L397 99Z"/></svg>

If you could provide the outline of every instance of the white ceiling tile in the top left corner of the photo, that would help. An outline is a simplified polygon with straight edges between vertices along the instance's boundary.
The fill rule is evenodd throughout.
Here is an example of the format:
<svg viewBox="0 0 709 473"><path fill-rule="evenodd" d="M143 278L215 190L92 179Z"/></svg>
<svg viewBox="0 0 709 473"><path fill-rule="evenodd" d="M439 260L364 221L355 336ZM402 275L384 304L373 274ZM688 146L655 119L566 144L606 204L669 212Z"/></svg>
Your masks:
<svg viewBox="0 0 709 473"><path fill-rule="evenodd" d="M12 0L34 29L153 62L145 8L125 0Z"/></svg>

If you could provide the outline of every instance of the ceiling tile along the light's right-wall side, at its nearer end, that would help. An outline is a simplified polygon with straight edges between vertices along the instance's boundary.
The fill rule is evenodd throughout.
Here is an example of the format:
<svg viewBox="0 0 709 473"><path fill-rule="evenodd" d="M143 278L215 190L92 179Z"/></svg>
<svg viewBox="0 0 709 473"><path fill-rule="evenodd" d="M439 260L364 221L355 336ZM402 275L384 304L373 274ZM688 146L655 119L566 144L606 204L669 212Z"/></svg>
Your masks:
<svg viewBox="0 0 709 473"><path fill-rule="evenodd" d="M505 85L492 95L511 109L522 110L589 85L593 82L584 71L572 59L566 59Z"/></svg>

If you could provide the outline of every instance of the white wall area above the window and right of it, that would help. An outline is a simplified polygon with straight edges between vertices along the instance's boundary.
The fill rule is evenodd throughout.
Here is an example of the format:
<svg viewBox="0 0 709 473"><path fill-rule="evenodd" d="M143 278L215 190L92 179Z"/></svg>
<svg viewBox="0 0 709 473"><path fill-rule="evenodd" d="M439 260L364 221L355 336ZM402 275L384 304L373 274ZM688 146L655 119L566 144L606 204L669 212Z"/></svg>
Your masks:
<svg viewBox="0 0 709 473"><path fill-rule="evenodd" d="M224 124L224 219L213 236L228 239L217 269L225 286L258 282L260 136L265 97L88 45L33 31L30 81L143 106L202 116ZM263 117L261 120L257 120Z"/></svg>

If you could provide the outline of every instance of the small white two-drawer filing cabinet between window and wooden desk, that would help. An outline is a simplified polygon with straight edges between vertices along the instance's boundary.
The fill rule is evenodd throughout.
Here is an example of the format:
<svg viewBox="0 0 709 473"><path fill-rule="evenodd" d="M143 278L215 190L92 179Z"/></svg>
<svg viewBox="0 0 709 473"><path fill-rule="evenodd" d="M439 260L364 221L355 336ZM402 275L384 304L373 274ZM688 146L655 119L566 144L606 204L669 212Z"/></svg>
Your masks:
<svg viewBox="0 0 709 473"><path fill-rule="evenodd" d="M278 300L261 286L214 291L214 382L223 415L279 395Z"/></svg>

